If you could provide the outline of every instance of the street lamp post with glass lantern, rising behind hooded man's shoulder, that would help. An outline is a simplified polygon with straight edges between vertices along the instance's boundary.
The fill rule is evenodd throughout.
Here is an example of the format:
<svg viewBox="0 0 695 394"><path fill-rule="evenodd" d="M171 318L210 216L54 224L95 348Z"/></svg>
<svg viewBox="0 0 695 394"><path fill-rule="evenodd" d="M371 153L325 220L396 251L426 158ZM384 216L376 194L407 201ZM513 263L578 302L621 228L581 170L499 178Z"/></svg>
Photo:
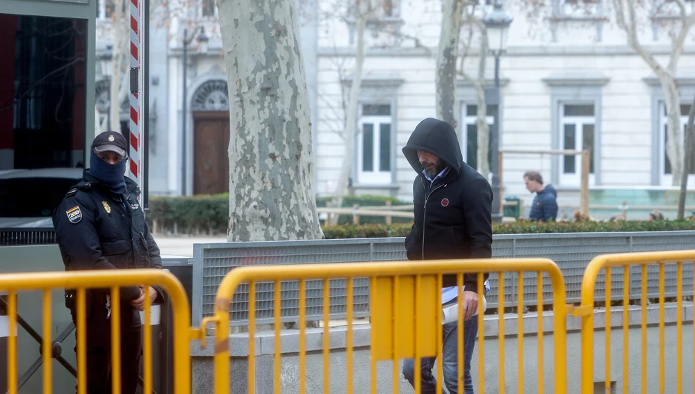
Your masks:
<svg viewBox="0 0 695 394"><path fill-rule="evenodd" d="M509 34L509 24L513 18L502 10L501 0L497 0L492 12L483 19L487 32L487 42L491 54L495 57L495 90L493 101L497 104L497 114L495 124L491 130L490 145L492 146L492 219L493 222L502 220L500 213L500 168L499 168L499 148L500 148L500 56L507 51L507 35ZM484 54L481 54L483 56Z"/></svg>

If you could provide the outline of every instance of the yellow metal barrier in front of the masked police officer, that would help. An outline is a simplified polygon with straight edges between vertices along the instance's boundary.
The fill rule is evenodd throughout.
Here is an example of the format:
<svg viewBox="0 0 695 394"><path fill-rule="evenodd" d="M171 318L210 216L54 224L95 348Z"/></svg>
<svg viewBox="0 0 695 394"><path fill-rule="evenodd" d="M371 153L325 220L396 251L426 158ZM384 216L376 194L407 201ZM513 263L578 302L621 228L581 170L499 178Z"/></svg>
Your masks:
<svg viewBox="0 0 695 394"><path fill-rule="evenodd" d="M174 393L190 394L190 355L188 344L190 313L188 297L181 282L168 272L154 269L40 272L26 274L0 274L0 290L8 292L8 393L17 393L17 292L43 290L43 393L51 393L51 290L76 289L77 311L77 373L78 393L86 393L86 290L89 288L111 288L111 373L112 391L120 393L120 287L161 286L169 295L174 309ZM145 291L145 302L149 305L149 292ZM145 309L143 324L143 366L145 393L152 392L152 327L149 325L149 308Z"/></svg>

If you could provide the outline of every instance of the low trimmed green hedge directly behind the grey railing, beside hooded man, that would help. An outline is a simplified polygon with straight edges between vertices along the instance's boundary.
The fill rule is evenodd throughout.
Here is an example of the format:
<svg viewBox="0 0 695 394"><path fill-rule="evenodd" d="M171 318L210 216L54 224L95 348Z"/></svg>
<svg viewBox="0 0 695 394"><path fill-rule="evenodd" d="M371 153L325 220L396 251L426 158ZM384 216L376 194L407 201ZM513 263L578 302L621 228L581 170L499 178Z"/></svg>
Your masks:
<svg viewBox="0 0 695 394"><path fill-rule="evenodd" d="M386 224L347 224L325 227L323 233L327 239L337 238L382 238L407 236L411 223ZM525 233L596 233L620 231L678 231L695 230L695 221L661 220L658 222L530 222L522 220L509 224L493 224L495 234Z"/></svg>

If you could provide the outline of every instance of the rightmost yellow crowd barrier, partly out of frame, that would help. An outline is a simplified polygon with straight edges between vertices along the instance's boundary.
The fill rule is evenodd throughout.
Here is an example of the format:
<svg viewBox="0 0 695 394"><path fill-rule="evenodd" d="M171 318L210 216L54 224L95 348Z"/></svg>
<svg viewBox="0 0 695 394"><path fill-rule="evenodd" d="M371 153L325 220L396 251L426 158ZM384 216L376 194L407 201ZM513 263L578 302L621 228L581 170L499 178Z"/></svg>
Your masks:
<svg viewBox="0 0 695 394"><path fill-rule="evenodd" d="M640 354L640 370L641 370L641 393L647 392L647 361L654 359L655 355L647 354L647 305L648 300L655 295L659 297L659 387L660 393L683 393L683 297L684 295L693 295L692 274L687 278L685 286L689 287L689 291L684 293L684 278L683 265L686 262L695 261L695 250L680 250L669 252L642 252L642 253L624 253L624 254L605 254L597 256L587 266L582 281L582 304L576 308L573 315L582 318L582 393L594 392L594 329L605 329L605 381L607 384L612 381L611 378L611 308L612 302L621 302L622 305L622 321L623 326L623 369L622 369L622 388L623 393L637 393L636 388L630 388L630 351L629 351L629 325L630 325L630 299L639 299L639 310L641 311L641 354ZM690 272L692 272L692 263ZM639 270L632 271L632 267L639 267ZM658 268L658 280L655 285L649 275L650 268ZM605 276L600 277L600 272L605 270ZM637 273L631 276L630 273ZM637 277L637 278L636 278ZM649 280L648 280L649 279ZM639 290L641 293L632 294L630 289L635 286L633 282L639 280ZM605 327L594 327L594 313L596 302L596 284L597 282L605 282ZM651 282L651 283L650 283ZM670 285L670 286L669 286ZM667 290L667 287L676 287L676 391L672 391L673 387L666 389L667 362L665 354L664 336L666 318L665 318L665 294L669 291L673 292L673 288ZM612 290L616 288L617 295L622 294L622 299L613 297ZM669 366L673 366L672 355L669 355ZM695 355L694 355L695 357ZM670 372L670 371L669 371ZM692 372L692 371L691 371ZM633 371L634 373L634 371ZM692 376L692 373L688 374ZM611 392L610 387L605 388L606 393Z"/></svg>

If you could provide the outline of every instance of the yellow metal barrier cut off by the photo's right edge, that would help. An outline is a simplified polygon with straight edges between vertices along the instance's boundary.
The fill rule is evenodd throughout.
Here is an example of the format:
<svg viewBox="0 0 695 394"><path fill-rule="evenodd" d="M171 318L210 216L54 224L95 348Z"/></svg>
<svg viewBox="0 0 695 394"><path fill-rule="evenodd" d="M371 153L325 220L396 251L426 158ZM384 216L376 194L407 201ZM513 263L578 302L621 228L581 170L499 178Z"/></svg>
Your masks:
<svg viewBox="0 0 695 394"><path fill-rule="evenodd" d="M669 252L641 252L624 254L605 254L597 256L587 266L582 279L582 304L574 311L582 318L582 393L594 393L594 288L601 270L605 269L605 393L611 393L611 301L612 270L621 267L623 279L630 278L630 266L641 266L641 393L647 392L647 266L659 266L659 386L665 393L665 354L664 354L664 283L665 264L676 263L676 344L682 343L682 299L683 262L695 261L695 250ZM630 306L630 279L623 283L623 393L637 393L628 389L628 330ZM676 392L682 393L682 347L677 345L676 354Z"/></svg>

